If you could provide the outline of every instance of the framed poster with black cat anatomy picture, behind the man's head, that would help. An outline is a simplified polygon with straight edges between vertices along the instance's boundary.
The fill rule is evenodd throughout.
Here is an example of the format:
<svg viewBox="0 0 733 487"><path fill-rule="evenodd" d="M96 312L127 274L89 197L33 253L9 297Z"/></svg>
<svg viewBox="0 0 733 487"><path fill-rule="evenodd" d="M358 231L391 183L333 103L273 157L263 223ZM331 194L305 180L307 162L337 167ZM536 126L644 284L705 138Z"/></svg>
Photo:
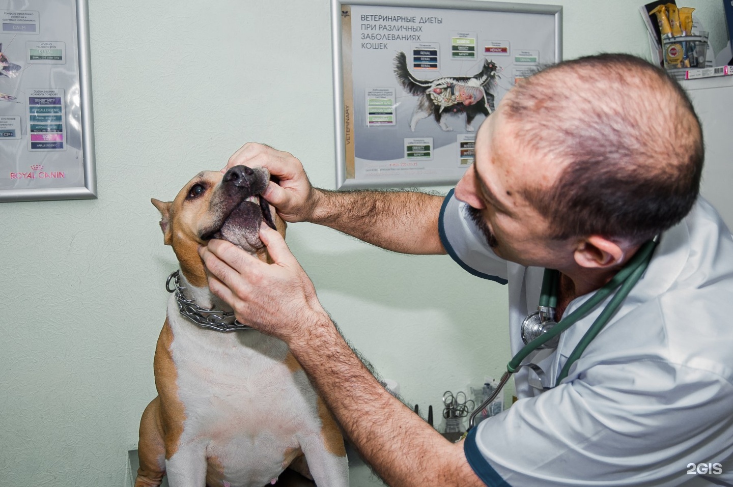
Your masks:
<svg viewBox="0 0 733 487"><path fill-rule="evenodd" d="M561 14L476 0L331 0L336 187L457 182L501 97L561 60Z"/></svg>

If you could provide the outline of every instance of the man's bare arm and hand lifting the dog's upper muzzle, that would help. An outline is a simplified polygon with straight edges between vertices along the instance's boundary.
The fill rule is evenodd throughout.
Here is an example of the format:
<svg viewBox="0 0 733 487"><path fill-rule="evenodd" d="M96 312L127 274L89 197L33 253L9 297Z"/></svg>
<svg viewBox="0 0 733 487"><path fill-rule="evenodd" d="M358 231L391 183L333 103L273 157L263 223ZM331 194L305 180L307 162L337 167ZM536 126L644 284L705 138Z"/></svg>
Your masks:
<svg viewBox="0 0 733 487"><path fill-rule="evenodd" d="M279 182L265 197L287 222L329 226L381 248L402 253L446 253L438 236L442 196L413 191L330 191L314 188L301 161L263 144L245 144L226 168L262 166Z"/></svg>

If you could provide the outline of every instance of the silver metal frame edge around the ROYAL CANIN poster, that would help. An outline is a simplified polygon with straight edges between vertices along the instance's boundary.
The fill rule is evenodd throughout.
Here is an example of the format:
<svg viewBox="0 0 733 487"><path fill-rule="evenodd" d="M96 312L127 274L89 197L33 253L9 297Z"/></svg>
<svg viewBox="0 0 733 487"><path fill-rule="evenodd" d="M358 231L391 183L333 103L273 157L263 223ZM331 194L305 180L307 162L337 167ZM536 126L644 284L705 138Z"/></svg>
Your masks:
<svg viewBox="0 0 733 487"><path fill-rule="evenodd" d="M97 198L97 176L95 164L94 112L92 109L92 75L89 49L89 5L87 0L54 0L73 6L76 17L75 55L78 61L76 83L79 90L81 114L81 149L84 184L73 187L47 187L32 189L0 189L2 201L50 201ZM48 21L48 20L46 20Z"/></svg>

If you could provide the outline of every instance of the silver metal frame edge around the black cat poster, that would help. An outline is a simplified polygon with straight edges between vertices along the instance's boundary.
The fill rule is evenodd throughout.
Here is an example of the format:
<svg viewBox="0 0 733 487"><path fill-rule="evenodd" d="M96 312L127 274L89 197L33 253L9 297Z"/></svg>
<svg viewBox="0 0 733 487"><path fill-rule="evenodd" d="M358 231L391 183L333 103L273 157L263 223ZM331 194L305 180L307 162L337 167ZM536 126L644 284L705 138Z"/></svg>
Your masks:
<svg viewBox="0 0 733 487"><path fill-rule="evenodd" d="M336 135L336 189L376 189L395 187L418 187L452 185L457 179L446 179L444 176L383 176L379 181L358 180L354 174L354 163L347 167L347 133L350 130L346 122L345 102L345 70L351 65L345 65L344 56L344 28L342 21L342 7L344 6L376 6L399 7L400 9L435 9L435 10L482 10L486 12L512 12L515 14L545 14L554 17L554 39L556 62L562 59L562 6L550 4L521 4L499 1L454 0L446 3L444 0L331 0L331 36L332 56L334 59L334 125ZM348 134L354 138L350 144L356 144L356 132L350 130ZM353 157L352 157L353 159Z"/></svg>

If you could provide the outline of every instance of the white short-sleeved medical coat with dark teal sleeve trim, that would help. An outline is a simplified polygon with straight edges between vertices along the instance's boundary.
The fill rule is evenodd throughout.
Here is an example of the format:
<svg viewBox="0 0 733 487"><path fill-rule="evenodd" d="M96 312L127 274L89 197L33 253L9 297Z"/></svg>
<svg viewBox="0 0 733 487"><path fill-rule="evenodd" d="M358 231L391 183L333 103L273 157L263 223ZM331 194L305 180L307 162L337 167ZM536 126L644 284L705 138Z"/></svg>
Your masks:
<svg viewBox="0 0 733 487"><path fill-rule="evenodd" d="M498 258L465 210L446 196L443 245L474 275L508 280L515 354L543 269ZM527 368L516 374L518 401L465 440L469 464L488 486L733 487L733 240L715 209L699 198L664 232L644 276L567 378L536 388L554 385L609 300L563 332L557 349L524 361L547 380L537 383Z"/></svg>

